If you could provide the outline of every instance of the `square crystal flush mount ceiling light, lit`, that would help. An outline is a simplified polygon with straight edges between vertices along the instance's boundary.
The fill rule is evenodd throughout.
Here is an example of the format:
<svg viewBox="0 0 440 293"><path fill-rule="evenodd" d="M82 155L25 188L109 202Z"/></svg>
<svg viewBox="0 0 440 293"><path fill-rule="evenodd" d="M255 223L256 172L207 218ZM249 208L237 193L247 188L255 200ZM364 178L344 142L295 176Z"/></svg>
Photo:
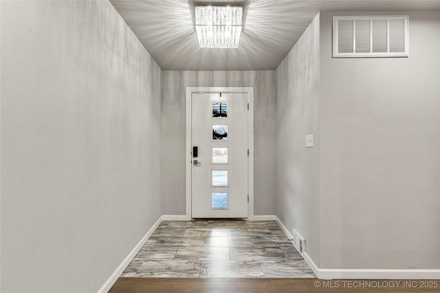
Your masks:
<svg viewBox="0 0 440 293"><path fill-rule="evenodd" d="M196 6L195 30L201 48L238 48L243 18L239 6Z"/></svg>

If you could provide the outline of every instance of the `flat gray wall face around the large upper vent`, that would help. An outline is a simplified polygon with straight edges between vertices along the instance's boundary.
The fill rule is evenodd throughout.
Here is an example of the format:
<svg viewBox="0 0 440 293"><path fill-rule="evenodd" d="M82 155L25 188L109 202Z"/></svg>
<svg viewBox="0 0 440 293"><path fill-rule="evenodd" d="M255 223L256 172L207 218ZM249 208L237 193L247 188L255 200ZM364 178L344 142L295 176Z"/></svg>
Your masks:
<svg viewBox="0 0 440 293"><path fill-rule="evenodd" d="M331 58L320 33L320 268L440 268L440 13L409 58Z"/></svg>

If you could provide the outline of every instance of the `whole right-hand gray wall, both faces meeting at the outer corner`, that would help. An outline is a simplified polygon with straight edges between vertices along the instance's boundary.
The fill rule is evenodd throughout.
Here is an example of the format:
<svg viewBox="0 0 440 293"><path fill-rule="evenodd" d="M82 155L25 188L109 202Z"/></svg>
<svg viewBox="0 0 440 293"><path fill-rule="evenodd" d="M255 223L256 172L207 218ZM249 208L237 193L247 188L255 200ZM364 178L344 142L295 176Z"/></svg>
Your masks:
<svg viewBox="0 0 440 293"><path fill-rule="evenodd" d="M332 58L344 14L409 14L410 57ZM277 69L276 215L319 268L438 269L440 13L318 18Z"/></svg>

